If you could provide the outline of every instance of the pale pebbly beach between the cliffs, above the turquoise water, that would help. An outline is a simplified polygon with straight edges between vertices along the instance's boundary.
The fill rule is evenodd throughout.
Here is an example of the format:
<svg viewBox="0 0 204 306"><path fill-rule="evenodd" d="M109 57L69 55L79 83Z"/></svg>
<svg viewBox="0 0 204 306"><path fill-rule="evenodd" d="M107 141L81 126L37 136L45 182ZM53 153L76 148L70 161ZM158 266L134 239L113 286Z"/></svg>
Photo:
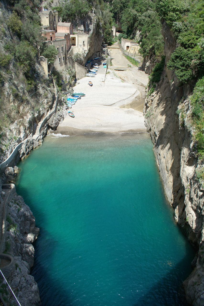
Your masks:
<svg viewBox="0 0 204 306"><path fill-rule="evenodd" d="M121 53L120 50L113 52L115 57L117 52ZM127 61L126 58L124 60ZM125 65L127 63L123 63L123 66ZM140 78L143 77L144 84L141 87L139 81L137 84L139 78L136 78L131 71L119 73L108 69L106 78L105 71L103 65L100 65L96 77L85 77L77 82L74 91L84 92L86 96L77 100L72 106L71 111L75 117L67 116L55 133L78 134L81 130L83 132L146 131L143 114L133 108L125 108L125 105L131 107L131 103L140 99L141 88L144 94L148 77L144 72L134 71L140 75ZM89 80L93 82L92 87L88 85ZM142 110L141 106L139 110Z"/></svg>

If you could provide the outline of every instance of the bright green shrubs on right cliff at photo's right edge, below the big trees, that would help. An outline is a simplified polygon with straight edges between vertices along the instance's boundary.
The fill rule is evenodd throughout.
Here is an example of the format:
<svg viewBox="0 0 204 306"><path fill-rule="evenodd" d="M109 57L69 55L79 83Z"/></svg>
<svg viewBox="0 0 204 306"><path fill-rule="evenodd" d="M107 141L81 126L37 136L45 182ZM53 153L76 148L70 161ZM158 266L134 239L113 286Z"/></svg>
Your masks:
<svg viewBox="0 0 204 306"><path fill-rule="evenodd" d="M196 83L190 99L198 157L204 160L204 76Z"/></svg>

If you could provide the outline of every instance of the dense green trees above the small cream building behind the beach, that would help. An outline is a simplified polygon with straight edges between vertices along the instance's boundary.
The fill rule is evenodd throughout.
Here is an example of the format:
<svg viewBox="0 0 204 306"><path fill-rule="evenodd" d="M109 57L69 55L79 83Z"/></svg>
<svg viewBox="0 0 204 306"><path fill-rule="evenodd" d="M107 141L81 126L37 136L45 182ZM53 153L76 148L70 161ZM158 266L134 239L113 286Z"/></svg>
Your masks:
<svg viewBox="0 0 204 306"><path fill-rule="evenodd" d="M161 34L160 17L156 3L151 0L114 0L111 12L116 23L121 23L121 38L134 39L139 31L140 53L145 56L160 57L164 52L164 39ZM138 36L137 36L138 37ZM138 38L137 38L138 40Z"/></svg>

